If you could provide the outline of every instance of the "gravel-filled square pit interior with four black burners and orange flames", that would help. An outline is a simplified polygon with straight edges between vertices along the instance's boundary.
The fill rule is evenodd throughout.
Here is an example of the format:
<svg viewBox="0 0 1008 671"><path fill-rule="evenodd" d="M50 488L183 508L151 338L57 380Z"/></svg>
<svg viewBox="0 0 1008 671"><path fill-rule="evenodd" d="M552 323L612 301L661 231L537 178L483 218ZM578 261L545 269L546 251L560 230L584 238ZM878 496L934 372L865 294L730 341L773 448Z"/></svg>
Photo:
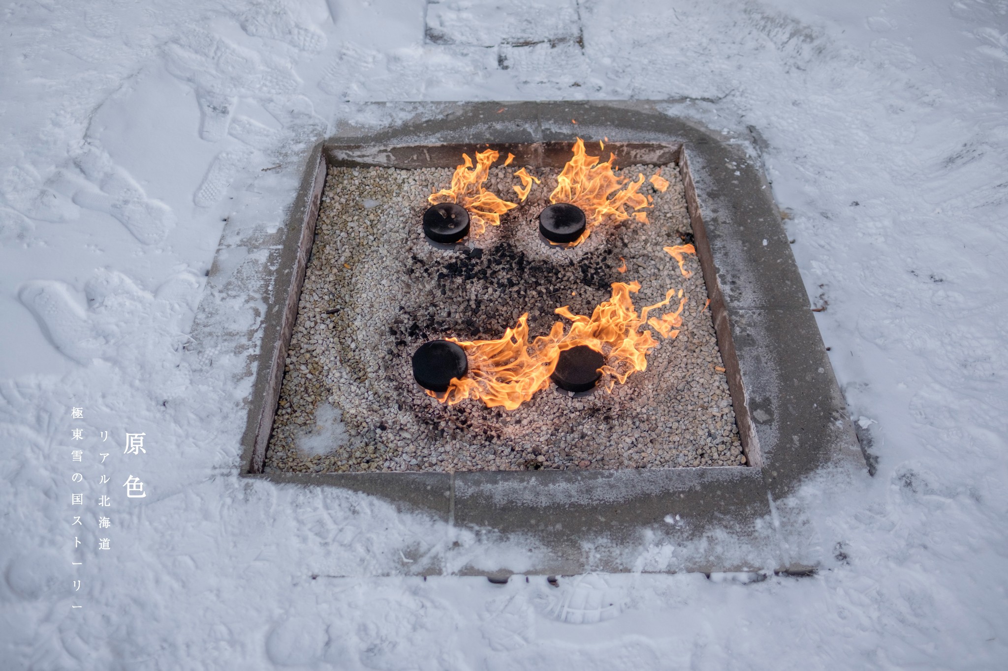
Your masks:
<svg viewBox="0 0 1008 671"><path fill-rule="evenodd" d="M267 471L744 465L683 184L603 147L330 168Z"/></svg>

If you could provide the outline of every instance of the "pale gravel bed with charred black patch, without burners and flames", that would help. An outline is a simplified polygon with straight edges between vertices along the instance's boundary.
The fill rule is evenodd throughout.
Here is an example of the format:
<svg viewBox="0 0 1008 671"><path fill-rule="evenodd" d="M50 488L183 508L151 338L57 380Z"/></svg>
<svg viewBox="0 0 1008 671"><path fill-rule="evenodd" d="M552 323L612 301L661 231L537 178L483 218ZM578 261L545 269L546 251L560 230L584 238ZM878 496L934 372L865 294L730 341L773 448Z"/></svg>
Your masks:
<svg viewBox="0 0 1008 671"><path fill-rule="evenodd" d="M516 200L517 167L492 169L488 188ZM632 166L621 172L633 178L654 171ZM529 169L542 183L500 226L455 248L433 246L420 217L426 196L449 184L452 172L329 169L268 471L745 464L700 264L687 257L692 277L683 278L661 248L692 241L674 166L662 170L670 181L664 193L650 184L642 189L654 196L649 223L606 220L571 248L550 246L538 234L555 169ZM550 384L509 411L476 400L446 405L412 378L410 357L427 340L499 338L525 312L530 336L542 335L559 320L554 309L568 305L591 315L610 297L613 282L634 280L641 284L633 295L638 311L669 288L683 289L688 302L679 336L655 334L660 344L648 354L647 369L612 393L600 387L572 397ZM669 308L676 305L673 299ZM334 409L341 422L329 429ZM298 449L306 443L311 450Z"/></svg>

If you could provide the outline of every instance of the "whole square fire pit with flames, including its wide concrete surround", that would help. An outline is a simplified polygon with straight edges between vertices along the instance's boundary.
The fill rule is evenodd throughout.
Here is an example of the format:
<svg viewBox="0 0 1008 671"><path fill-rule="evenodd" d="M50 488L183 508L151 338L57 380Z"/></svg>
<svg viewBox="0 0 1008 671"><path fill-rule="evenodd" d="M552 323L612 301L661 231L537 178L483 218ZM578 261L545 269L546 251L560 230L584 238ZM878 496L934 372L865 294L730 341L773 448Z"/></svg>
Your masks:
<svg viewBox="0 0 1008 671"><path fill-rule="evenodd" d="M366 118L412 120L350 125L317 147L274 233L226 226L194 336L208 354L235 341L222 306L247 295L248 273L264 280L249 305L268 308L235 341L237 353L261 334L242 475L432 515L448 535L400 546L409 573L804 573L824 560L831 545L809 533L809 507L864 460L746 140L669 117L664 103L374 107ZM579 161L575 132L594 138ZM604 165L590 160L600 140L626 180L608 191L621 213L602 217L577 188ZM472 162L488 149L498 156ZM463 153L471 174L455 182ZM481 199L479 183L495 198ZM424 233L423 212L442 203L470 214L458 241ZM557 203L585 212L581 238L539 231ZM603 317L624 330L603 333ZM614 337L633 334L614 358ZM507 362L486 343L521 338L545 365L502 379ZM463 350L466 372L458 357L446 357L454 372L421 365L424 388L413 354L438 340ZM583 345L605 364L582 359L594 356L575 352ZM474 394L456 382L489 373L504 386ZM587 392L562 386L600 373ZM826 473L823 496L790 496ZM478 551L451 542L457 527Z"/></svg>

